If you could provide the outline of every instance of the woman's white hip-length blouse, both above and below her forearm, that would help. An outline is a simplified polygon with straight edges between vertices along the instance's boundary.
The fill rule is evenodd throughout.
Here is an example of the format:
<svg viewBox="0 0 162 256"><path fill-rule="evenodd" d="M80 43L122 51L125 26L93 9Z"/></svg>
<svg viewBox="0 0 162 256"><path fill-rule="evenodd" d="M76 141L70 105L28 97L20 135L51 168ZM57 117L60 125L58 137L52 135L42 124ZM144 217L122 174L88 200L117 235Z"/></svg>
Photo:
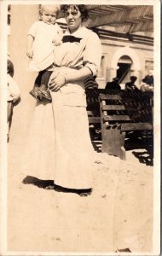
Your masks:
<svg viewBox="0 0 162 256"><path fill-rule="evenodd" d="M84 26L72 34L67 31L62 44L54 50L54 69L58 68L63 73L72 72L73 68L89 67L92 74L96 75L100 65L101 41L95 32ZM83 79L67 83L60 91L63 105L86 107Z"/></svg>

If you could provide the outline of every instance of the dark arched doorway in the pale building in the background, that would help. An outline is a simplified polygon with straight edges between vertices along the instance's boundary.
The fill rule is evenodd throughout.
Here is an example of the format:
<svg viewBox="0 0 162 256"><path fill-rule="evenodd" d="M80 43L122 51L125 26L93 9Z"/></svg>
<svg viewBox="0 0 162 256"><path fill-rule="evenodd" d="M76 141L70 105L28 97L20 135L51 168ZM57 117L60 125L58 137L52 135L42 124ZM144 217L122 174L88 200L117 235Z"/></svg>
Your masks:
<svg viewBox="0 0 162 256"><path fill-rule="evenodd" d="M130 81L130 69L133 61L130 59L128 55L123 55L119 58L118 61L118 69L117 69L117 78L119 79L119 83L125 84Z"/></svg>

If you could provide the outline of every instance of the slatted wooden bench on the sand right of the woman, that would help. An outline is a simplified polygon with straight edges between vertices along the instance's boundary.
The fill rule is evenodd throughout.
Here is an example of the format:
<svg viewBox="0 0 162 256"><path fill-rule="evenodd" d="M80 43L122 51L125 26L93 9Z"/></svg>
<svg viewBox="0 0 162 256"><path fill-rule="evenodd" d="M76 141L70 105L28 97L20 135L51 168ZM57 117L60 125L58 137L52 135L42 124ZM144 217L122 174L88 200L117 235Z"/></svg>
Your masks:
<svg viewBox="0 0 162 256"><path fill-rule="evenodd" d="M153 92L98 90L91 99L89 122L101 122L102 152L124 160L125 132L153 131Z"/></svg>

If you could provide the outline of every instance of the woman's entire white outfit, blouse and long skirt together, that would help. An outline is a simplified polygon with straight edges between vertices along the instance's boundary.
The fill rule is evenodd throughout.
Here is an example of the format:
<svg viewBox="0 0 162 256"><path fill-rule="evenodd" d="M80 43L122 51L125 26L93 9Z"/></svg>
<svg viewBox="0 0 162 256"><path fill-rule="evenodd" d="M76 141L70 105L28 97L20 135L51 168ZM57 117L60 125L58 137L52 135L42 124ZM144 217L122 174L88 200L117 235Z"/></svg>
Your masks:
<svg viewBox="0 0 162 256"><path fill-rule="evenodd" d="M65 36L65 42L54 52L56 70L67 73L86 66L96 75L101 42L95 32L83 26L72 34L67 31ZM89 189L95 151L90 141L84 82L68 83L51 96L52 103L38 102L33 114L26 175L53 179L66 188Z"/></svg>

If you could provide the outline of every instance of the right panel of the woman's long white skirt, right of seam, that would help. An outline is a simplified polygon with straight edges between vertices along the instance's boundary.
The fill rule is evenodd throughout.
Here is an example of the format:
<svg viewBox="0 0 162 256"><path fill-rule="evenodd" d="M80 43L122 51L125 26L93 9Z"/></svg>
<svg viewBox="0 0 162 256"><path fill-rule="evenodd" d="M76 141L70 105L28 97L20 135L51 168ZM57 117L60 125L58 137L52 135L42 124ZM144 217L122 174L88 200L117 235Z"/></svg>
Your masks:
<svg viewBox="0 0 162 256"><path fill-rule="evenodd" d="M95 153L86 108L63 105L60 91L51 95L55 120L55 184L89 189Z"/></svg>

